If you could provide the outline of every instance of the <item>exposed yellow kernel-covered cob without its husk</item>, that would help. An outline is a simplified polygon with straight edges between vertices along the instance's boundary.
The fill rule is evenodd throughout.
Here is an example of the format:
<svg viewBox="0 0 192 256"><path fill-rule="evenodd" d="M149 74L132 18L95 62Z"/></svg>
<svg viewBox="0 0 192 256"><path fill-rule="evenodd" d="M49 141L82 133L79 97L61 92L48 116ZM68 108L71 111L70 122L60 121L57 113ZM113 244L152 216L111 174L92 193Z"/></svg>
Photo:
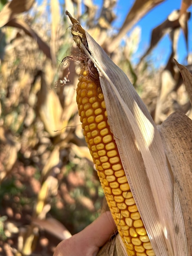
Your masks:
<svg viewBox="0 0 192 256"><path fill-rule="evenodd" d="M103 92L89 80L84 69L80 73L76 101L83 134L127 254L154 256L109 127Z"/></svg>

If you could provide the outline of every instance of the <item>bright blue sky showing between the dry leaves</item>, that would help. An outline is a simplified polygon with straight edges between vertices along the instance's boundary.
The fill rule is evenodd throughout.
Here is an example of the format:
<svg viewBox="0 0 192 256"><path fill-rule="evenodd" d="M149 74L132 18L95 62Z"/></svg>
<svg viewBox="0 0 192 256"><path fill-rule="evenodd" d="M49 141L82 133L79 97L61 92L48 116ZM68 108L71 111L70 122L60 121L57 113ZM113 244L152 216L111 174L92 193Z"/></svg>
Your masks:
<svg viewBox="0 0 192 256"><path fill-rule="evenodd" d="M95 0L94 3L100 6L102 0ZM121 27L123 20L125 19L129 9L132 7L134 0L118 0L116 6L116 15L118 16L113 23L114 27ZM160 25L167 16L174 10L180 9L181 0L165 0L163 3L159 4L157 7L152 9L145 17L143 17L137 25L141 27L141 41L137 53L134 56L134 62L138 61L138 56L141 56L150 44L150 33L152 29ZM190 7L189 11L192 11ZM189 52L192 52L192 19L188 23L189 25ZM156 67L165 65L170 55L170 39L165 36L156 48L152 51L151 58L155 61ZM179 43L178 43L178 56L177 60L186 64L186 45L183 38L182 32L180 33Z"/></svg>

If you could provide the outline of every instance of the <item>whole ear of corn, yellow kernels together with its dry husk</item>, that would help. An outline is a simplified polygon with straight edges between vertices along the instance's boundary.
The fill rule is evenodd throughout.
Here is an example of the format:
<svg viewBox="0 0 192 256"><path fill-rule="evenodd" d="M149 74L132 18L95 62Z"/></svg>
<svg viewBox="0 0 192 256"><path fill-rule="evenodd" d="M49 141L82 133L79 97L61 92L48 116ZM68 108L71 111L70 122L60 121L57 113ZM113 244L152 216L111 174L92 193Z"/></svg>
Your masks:
<svg viewBox="0 0 192 256"><path fill-rule="evenodd" d="M190 199L187 199L188 193L191 195L191 186L188 185L185 192L183 189L187 184L185 178L190 180L191 175L190 166L186 166L191 156L191 147L189 146L186 152L183 143L176 147L183 137L183 134L179 137L182 129L176 124L178 118L176 123L170 119L171 123L174 123L174 135L170 136L170 131L165 125L163 130L166 135L162 141L162 129L160 135L147 107L125 73L113 63L80 23L69 12L66 11L66 14L73 24L71 34L79 48L77 58L86 70L89 70L88 76L82 71L78 85L80 89L77 90L78 93L82 90L82 93L77 95L77 102L84 134L119 234L128 247L128 254L153 255L155 252L159 256L191 255L191 223L188 218L191 210L188 209L192 209L192 204ZM99 83L98 88L92 81L97 85ZM180 120L182 123L183 119ZM185 121L186 124L189 123ZM188 144L190 134L188 132L185 136ZM120 155L116 154L115 142L122 163L118 162ZM105 155L107 150L112 152ZM187 160L183 160L185 153ZM143 221L138 215L138 219L133 218L132 213L137 213L137 209L124 180L122 164ZM185 214L186 212L188 213ZM134 226L138 223L145 223L147 232L144 226ZM138 229L142 229L143 234L138 234ZM141 239L147 238L146 233L150 237L154 252L150 249L150 243L144 244L148 243L147 240ZM135 238L139 238L141 244ZM139 244L134 244L137 242Z"/></svg>

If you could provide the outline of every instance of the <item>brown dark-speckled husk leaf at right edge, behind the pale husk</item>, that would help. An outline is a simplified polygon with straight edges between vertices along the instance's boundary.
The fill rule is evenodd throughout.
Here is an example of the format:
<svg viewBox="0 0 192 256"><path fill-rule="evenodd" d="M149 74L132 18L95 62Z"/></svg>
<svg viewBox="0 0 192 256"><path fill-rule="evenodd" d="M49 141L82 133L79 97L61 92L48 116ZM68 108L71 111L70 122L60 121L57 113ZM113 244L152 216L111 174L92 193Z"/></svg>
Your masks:
<svg viewBox="0 0 192 256"><path fill-rule="evenodd" d="M176 235L186 236L186 254L192 255L192 120L176 111L159 127L166 156L174 175L174 207L181 203L181 219L175 219ZM174 209L174 216L177 211ZM178 237L178 240L183 240Z"/></svg>

